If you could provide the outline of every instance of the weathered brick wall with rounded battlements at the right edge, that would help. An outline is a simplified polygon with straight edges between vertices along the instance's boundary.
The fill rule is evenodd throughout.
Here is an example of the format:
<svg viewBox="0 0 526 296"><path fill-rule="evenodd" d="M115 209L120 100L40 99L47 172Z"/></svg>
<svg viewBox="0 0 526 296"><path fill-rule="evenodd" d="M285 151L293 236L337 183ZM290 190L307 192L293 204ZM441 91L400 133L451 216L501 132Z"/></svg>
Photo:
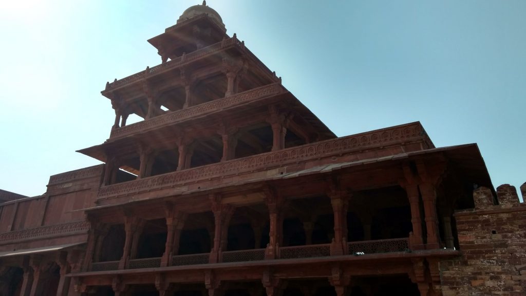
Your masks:
<svg viewBox="0 0 526 296"><path fill-rule="evenodd" d="M521 186L526 199L526 183ZM462 257L440 262L441 289L452 295L526 295L526 203L508 184L473 192L476 208L457 212Z"/></svg>

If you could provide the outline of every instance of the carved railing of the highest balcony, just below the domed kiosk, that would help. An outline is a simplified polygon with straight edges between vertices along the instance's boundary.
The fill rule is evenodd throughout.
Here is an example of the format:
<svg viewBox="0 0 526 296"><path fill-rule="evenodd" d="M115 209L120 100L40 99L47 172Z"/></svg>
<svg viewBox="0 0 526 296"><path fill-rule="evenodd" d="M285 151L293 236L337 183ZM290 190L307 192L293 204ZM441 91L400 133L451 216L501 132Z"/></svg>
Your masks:
<svg viewBox="0 0 526 296"><path fill-rule="evenodd" d="M149 76L151 74L159 73L159 72L171 69L171 68L178 67L178 66L180 66L182 64L198 60L199 58L201 58L201 57L203 57L205 55L209 55L209 54L215 53L218 50L221 50L222 48L226 48L226 47L231 46L231 45L239 45L239 41L237 40L236 37L228 38L228 39L226 39L224 41L212 44L212 45L207 46L207 47L203 47L203 48L201 48L199 50L196 50L194 52L191 52L189 54L186 54L186 55L180 56L178 58L175 58L174 60L170 60L170 61L168 61L166 63L162 63L162 64L159 64L157 66L151 67L151 68L146 68L146 70L144 70L144 71L141 71L141 72L138 72L138 73L135 73L135 74L131 74L131 75L127 76L127 77L124 77L122 79L116 80L116 81L114 81L112 83L108 83L108 84L106 84L106 90L105 91L110 91L110 90L115 89L115 88L117 88L119 86L123 86L123 85L126 85L128 83L132 83L132 82L141 80L141 79L143 79L146 76Z"/></svg>

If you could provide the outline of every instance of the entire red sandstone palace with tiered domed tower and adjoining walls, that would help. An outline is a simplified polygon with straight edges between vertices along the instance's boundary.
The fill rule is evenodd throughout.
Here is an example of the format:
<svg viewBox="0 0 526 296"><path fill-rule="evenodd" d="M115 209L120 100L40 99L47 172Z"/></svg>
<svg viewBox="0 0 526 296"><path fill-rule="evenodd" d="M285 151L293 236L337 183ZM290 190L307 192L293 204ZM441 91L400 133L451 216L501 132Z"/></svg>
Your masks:
<svg viewBox="0 0 526 296"><path fill-rule="evenodd" d="M148 42L79 151L105 164L0 191L0 295L526 294L526 206L476 144L336 137L206 3Z"/></svg>

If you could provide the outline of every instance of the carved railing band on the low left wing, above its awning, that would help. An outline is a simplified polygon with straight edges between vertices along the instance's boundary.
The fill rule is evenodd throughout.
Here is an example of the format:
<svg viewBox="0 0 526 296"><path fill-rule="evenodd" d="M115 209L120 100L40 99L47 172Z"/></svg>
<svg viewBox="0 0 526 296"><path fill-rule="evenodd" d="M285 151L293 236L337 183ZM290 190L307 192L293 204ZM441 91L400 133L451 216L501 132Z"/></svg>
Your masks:
<svg viewBox="0 0 526 296"><path fill-rule="evenodd" d="M0 243L33 240L39 238L46 238L48 236L75 234L80 232L87 232L88 230L89 223L85 221L42 226L32 229L1 233Z"/></svg>

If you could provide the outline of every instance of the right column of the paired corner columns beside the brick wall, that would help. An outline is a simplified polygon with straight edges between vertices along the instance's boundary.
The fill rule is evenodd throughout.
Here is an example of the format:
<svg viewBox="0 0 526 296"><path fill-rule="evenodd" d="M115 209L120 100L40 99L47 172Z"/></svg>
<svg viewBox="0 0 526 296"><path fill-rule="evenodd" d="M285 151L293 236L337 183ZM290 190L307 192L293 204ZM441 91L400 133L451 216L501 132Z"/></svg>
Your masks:
<svg viewBox="0 0 526 296"><path fill-rule="evenodd" d="M427 244L426 249L438 249L439 244L439 229L437 218L437 192L434 185L431 183L423 183L419 185L420 193L422 194L422 201L424 204L424 213L426 214L426 228L427 228Z"/></svg>

